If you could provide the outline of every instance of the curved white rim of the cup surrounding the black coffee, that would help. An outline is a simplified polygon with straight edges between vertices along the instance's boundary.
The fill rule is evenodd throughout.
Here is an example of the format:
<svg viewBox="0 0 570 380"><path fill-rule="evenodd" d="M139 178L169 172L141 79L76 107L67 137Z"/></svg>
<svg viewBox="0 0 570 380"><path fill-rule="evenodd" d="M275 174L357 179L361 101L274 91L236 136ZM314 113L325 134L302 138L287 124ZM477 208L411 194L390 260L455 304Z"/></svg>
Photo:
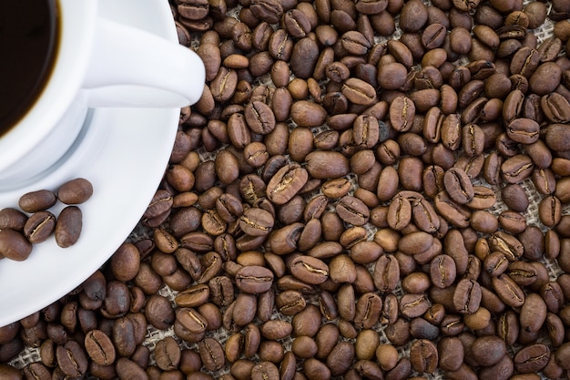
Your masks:
<svg viewBox="0 0 570 380"><path fill-rule="evenodd" d="M87 71L97 0L57 0L59 41L52 73L35 104L0 138L0 170L17 164L50 132L77 96ZM46 127L47 126L47 127Z"/></svg>

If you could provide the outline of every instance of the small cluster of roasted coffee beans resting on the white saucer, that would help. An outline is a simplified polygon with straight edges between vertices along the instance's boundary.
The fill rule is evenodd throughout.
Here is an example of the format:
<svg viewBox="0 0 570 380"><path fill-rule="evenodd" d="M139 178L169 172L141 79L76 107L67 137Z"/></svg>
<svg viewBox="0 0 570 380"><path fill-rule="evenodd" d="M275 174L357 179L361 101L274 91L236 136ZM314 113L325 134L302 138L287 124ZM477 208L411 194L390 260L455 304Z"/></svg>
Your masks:
<svg viewBox="0 0 570 380"><path fill-rule="evenodd" d="M58 190L36 190L22 195L17 208L0 210L0 259L27 259L34 244L52 235L61 248L76 243L83 214L76 206L91 198L93 186L84 178L68 180ZM51 209L60 201L65 208L56 216Z"/></svg>

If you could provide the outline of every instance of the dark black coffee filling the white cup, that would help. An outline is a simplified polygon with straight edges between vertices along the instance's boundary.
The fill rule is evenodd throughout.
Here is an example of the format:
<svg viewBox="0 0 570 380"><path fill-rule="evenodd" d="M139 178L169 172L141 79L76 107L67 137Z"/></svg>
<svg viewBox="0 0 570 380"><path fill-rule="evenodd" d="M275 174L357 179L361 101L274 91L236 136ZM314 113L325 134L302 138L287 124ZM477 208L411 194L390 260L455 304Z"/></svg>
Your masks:
<svg viewBox="0 0 570 380"><path fill-rule="evenodd" d="M0 135L32 107L55 61L56 0L0 5Z"/></svg>

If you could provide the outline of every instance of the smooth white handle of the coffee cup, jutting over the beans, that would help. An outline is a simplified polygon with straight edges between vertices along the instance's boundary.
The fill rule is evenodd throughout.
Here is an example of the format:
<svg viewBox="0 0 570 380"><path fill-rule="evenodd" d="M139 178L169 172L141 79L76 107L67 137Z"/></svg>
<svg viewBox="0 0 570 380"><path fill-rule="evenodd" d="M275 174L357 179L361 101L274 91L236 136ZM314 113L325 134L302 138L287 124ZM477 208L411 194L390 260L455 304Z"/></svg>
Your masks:
<svg viewBox="0 0 570 380"><path fill-rule="evenodd" d="M182 108L202 95L205 69L186 46L98 18L82 88L87 106Z"/></svg>

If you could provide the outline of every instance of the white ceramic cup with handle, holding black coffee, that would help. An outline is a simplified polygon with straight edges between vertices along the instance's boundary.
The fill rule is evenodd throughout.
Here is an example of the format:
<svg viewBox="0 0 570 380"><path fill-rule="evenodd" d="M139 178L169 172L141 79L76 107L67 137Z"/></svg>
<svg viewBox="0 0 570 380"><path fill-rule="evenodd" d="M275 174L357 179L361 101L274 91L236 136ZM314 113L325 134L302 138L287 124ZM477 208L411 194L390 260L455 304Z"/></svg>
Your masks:
<svg viewBox="0 0 570 380"><path fill-rule="evenodd" d="M102 15L100 3L57 1L54 70L34 107L0 139L0 191L21 186L60 159L87 108L180 108L198 101L205 76L198 55L178 40Z"/></svg>

